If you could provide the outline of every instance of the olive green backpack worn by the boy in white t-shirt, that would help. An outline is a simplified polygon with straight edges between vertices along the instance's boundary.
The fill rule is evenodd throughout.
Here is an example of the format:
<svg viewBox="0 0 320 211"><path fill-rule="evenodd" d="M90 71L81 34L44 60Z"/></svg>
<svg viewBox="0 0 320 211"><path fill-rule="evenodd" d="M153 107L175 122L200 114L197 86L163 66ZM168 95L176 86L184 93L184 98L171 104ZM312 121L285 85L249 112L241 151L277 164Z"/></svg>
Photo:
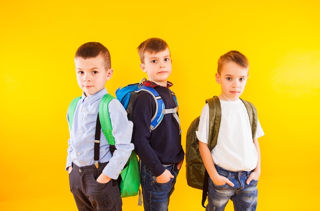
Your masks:
<svg viewBox="0 0 320 211"><path fill-rule="evenodd" d="M242 99L241 99L242 100ZM210 151L217 144L218 133L221 122L221 104L219 98L217 96L207 99L205 101L209 105L209 144L208 147ZM248 114L250 125L252 128L252 136L253 138L256 135L257 130L257 110L255 106L245 100L242 100L244 103ZM205 170L203 165L203 161L201 159L201 155L198 148L198 138L196 136L196 132L198 130L199 125L199 117L198 116L189 126L186 137L186 177L187 183L189 186L194 187L196 189L202 190L202 206L204 206L205 199L207 199L208 195L208 172Z"/></svg>

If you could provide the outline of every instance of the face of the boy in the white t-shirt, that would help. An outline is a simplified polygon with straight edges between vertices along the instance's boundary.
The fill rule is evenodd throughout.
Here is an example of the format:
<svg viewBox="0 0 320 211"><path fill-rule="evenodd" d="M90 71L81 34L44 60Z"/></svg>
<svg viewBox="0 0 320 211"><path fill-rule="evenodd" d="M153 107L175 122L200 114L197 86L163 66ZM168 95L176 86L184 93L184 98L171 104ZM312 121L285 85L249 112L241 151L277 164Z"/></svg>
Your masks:
<svg viewBox="0 0 320 211"><path fill-rule="evenodd" d="M216 73L216 81L221 85L220 100L236 101L241 96L248 79L248 69L235 62L223 64L220 75Z"/></svg>

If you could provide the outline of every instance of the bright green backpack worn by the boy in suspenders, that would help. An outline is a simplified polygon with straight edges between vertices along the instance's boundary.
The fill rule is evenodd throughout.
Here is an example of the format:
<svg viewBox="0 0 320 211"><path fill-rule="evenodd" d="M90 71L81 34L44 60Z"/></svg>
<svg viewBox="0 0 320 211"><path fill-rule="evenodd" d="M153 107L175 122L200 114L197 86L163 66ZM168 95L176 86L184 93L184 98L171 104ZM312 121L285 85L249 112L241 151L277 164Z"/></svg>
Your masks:
<svg viewBox="0 0 320 211"><path fill-rule="evenodd" d="M70 130L72 128L74 113L80 98L81 97L75 98L68 107ZM108 140L111 153L113 153L114 149L116 149L115 137L113 137L112 135L112 126L108 112L108 104L112 99L115 99L115 97L111 96L110 94L106 94L105 96L103 96L99 104L99 119L101 128L104 136ZM121 171L118 180L120 181L121 197L135 196L138 194L140 187L140 167L138 157L136 156L134 150L132 151L124 169Z"/></svg>

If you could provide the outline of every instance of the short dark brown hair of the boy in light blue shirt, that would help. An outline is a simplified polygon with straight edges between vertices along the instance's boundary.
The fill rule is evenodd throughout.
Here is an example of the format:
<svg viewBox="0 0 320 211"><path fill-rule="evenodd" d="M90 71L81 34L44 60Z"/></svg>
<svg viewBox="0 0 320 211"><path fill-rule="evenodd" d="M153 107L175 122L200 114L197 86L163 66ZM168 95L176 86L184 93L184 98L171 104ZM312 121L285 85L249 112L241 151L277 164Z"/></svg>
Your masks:
<svg viewBox="0 0 320 211"><path fill-rule="evenodd" d="M106 70L111 68L111 58L109 50L100 42L87 42L82 44L75 55L75 58L90 59L101 55Z"/></svg>

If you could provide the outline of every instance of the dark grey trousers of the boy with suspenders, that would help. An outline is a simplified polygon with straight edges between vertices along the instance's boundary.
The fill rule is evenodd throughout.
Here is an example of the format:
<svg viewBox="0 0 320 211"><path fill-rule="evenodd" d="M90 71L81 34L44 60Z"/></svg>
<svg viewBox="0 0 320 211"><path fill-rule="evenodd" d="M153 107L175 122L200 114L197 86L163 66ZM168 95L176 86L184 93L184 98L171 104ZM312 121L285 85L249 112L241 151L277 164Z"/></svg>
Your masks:
<svg viewBox="0 0 320 211"><path fill-rule="evenodd" d="M78 167L73 164L69 174L70 190L79 211L121 211L122 199L117 180L102 184L96 181L107 163Z"/></svg>

